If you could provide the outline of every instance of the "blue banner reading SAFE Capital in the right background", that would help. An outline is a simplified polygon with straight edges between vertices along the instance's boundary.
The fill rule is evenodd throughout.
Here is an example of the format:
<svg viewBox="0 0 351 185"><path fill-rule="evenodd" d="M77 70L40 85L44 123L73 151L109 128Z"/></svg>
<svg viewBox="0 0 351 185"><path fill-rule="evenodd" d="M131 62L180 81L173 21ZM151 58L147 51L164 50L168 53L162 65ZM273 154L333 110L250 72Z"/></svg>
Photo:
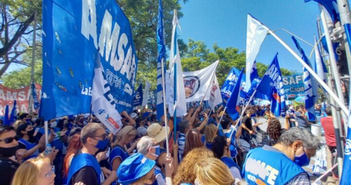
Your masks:
<svg viewBox="0 0 351 185"><path fill-rule="evenodd" d="M304 96L304 83L302 74L292 74L283 76L283 86L288 99L295 99L299 96Z"/></svg>

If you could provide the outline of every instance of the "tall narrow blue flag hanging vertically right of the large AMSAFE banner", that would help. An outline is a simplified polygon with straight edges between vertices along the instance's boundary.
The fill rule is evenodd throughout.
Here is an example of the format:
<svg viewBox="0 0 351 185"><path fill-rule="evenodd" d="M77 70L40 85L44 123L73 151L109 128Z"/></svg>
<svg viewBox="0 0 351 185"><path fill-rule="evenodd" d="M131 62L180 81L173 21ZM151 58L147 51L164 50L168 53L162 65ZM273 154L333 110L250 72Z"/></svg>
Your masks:
<svg viewBox="0 0 351 185"><path fill-rule="evenodd" d="M161 117L164 115L164 99L163 97L163 88L162 88L162 74L163 71L166 71L166 44L165 44L165 33L163 27L163 10L162 10L162 0L159 0L158 3L158 22L157 22L157 98L156 98L156 109L157 109L157 120L161 120ZM162 66L162 61L164 66Z"/></svg>

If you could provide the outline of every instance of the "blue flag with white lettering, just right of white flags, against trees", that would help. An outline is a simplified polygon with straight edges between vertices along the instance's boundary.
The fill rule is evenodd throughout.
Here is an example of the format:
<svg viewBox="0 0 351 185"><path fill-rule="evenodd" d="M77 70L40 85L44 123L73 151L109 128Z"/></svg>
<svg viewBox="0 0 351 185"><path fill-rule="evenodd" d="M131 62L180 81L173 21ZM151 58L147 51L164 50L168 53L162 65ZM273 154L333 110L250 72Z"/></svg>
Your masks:
<svg viewBox="0 0 351 185"><path fill-rule="evenodd" d="M232 94L234 87L236 85L236 82L239 79L240 71L237 70L236 68L232 68L232 70L229 72L226 80L224 81L222 88L221 88L221 95L222 99L224 102L227 102L230 95ZM242 74L240 85L242 85L246 81L246 75ZM246 98L247 95L244 91L240 92L240 96L243 98Z"/></svg>

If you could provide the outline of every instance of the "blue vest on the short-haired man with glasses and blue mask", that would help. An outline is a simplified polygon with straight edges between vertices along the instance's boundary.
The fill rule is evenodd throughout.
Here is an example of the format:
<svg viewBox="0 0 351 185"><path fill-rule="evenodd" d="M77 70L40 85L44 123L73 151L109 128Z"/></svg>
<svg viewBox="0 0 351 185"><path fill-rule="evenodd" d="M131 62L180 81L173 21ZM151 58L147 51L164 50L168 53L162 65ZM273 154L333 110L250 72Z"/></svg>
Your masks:
<svg viewBox="0 0 351 185"><path fill-rule="evenodd" d="M99 185L101 185L102 172L100 165L98 164L98 160L95 158L94 155L88 153L82 153L73 158L71 166L68 170L67 185L71 185L71 179L73 175L85 166L94 167L96 175L98 177Z"/></svg>

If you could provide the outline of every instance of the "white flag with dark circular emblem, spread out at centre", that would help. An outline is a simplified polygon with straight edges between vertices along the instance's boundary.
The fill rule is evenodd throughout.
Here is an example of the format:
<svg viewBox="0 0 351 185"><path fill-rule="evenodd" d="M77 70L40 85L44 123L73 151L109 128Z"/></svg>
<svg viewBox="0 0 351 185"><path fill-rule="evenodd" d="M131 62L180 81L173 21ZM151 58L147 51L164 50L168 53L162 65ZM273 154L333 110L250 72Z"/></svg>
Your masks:
<svg viewBox="0 0 351 185"><path fill-rule="evenodd" d="M210 99L218 62L219 60L202 70L183 73L186 102L201 101L204 96L204 101Z"/></svg>

